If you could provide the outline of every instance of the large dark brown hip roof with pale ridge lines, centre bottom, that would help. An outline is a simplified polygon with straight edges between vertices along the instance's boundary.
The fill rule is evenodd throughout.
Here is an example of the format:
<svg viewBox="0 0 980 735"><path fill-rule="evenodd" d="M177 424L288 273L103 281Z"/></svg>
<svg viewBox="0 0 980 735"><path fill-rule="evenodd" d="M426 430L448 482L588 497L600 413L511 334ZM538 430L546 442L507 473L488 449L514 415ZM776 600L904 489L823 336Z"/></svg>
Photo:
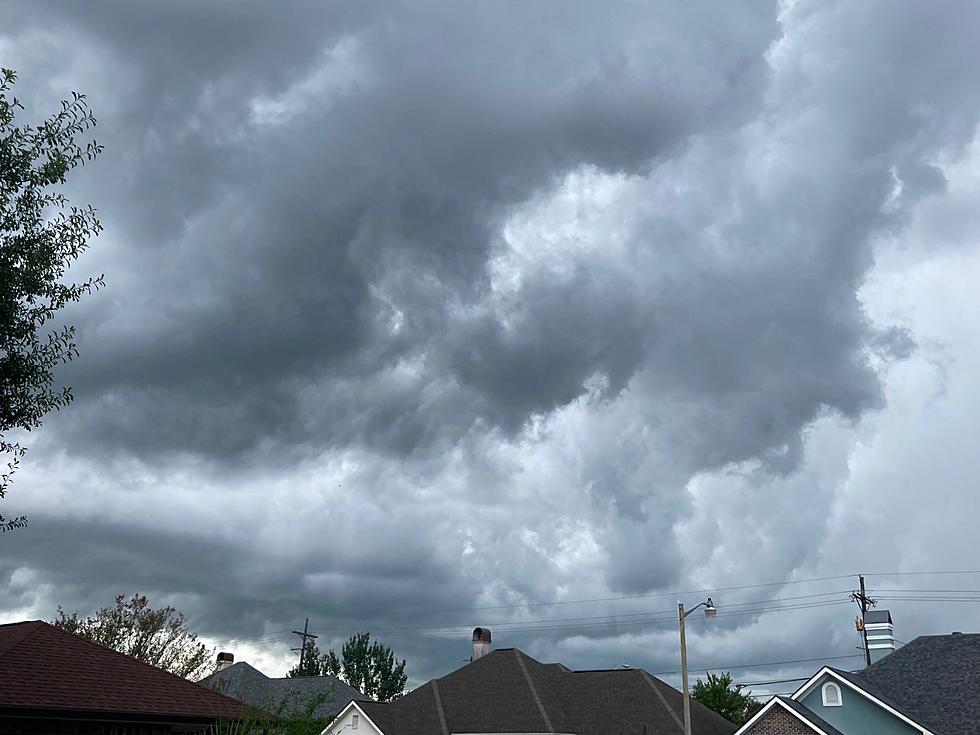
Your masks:
<svg viewBox="0 0 980 735"><path fill-rule="evenodd" d="M674 735L683 722L681 693L642 669L571 671L516 648L492 651L394 702L358 706L385 735L621 735L643 725L651 735ZM691 722L697 735L735 731L696 701L691 702Z"/></svg>

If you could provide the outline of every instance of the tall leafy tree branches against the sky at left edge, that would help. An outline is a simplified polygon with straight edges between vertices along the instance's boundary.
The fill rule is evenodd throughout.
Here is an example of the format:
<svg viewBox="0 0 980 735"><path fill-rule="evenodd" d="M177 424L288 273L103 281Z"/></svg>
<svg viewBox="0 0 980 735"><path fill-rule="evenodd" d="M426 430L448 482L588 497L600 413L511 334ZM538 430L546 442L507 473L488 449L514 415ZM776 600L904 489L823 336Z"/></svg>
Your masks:
<svg viewBox="0 0 980 735"><path fill-rule="evenodd" d="M95 126L95 117L85 97L73 93L40 125L16 125L14 116L24 109L8 96L16 80L16 72L0 69L0 454L7 457L0 498L25 452L8 432L36 429L47 413L72 400L70 388L54 387L53 371L77 356L75 328L48 331L44 325L102 285L102 276L64 280L102 225L91 206L69 207L57 190L69 171L102 151L94 141L76 141ZM0 531L26 522L0 516Z"/></svg>

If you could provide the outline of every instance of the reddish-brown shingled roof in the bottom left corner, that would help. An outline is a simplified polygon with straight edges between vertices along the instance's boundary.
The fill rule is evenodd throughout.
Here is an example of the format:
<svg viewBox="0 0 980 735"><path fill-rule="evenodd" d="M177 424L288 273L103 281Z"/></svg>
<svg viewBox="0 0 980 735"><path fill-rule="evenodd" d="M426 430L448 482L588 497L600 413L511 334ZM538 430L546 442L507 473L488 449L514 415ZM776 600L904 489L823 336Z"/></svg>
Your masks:
<svg viewBox="0 0 980 735"><path fill-rule="evenodd" d="M0 625L0 708L216 719L245 705L31 620Z"/></svg>

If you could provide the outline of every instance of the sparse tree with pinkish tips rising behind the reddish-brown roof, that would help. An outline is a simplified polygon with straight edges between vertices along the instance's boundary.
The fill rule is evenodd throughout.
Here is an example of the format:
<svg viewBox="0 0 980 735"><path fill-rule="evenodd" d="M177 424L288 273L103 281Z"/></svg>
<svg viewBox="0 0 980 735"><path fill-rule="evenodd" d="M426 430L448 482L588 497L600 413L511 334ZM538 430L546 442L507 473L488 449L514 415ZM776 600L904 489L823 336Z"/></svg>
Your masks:
<svg viewBox="0 0 980 735"><path fill-rule="evenodd" d="M144 595L129 600L116 595L115 604L87 618L67 614L58 606L55 626L100 646L186 679L198 680L211 673L213 651L187 630L184 614L168 606L150 607Z"/></svg>

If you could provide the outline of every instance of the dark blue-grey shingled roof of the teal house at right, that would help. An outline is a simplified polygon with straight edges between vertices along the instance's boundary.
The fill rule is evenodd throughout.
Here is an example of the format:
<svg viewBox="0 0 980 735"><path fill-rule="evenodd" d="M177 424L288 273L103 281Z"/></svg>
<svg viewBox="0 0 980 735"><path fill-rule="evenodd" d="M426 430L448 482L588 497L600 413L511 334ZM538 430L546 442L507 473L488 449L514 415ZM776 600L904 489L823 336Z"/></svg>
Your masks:
<svg viewBox="0 0 980 735"><path fill-rule="evenodd" d="M836 673L937 735L980 729L980 634L920 636L863 671Z"/></svg>

